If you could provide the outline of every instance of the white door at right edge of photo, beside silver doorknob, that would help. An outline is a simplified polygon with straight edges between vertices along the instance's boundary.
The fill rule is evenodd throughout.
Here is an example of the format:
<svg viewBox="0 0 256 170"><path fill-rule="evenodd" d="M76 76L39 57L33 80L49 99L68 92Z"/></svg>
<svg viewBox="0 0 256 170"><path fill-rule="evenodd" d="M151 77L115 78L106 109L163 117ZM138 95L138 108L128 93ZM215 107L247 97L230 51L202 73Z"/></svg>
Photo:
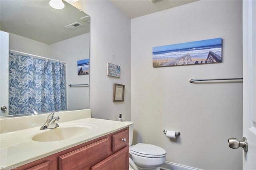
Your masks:
<svg viewBox="0 0 256 170"><path fill-rule="evenodd" d="M256 170L256 0L243 0L243 169Z"/></svg>

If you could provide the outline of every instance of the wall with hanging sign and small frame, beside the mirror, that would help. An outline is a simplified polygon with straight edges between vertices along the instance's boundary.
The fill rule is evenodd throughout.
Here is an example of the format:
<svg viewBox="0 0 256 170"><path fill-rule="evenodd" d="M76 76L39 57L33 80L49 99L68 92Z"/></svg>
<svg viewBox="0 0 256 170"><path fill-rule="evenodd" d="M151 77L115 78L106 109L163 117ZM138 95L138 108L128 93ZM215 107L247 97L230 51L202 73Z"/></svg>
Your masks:
<svg viewBox="0 0 256 170"><path fill-rule="evenodd" d="M75 3L90 20L90 108L92 117L130 120L130 19L110 1ZM112 59L113 55L116 58ZM120 65L121 77L107 76L107 62ZM113 102L113 84L124 84L124 102Z"/></svg>

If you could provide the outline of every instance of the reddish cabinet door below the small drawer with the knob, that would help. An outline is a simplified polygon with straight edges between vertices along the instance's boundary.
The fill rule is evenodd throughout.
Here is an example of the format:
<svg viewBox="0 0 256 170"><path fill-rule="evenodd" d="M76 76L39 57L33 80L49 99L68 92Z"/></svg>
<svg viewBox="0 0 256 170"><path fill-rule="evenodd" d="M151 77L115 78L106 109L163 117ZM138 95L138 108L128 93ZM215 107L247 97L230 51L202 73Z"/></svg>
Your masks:
<svg viewBox="0 0 256 170"><path fill-rule="evenodd" d="M91 170L128 170L129 146L92 166Z"/></svg>

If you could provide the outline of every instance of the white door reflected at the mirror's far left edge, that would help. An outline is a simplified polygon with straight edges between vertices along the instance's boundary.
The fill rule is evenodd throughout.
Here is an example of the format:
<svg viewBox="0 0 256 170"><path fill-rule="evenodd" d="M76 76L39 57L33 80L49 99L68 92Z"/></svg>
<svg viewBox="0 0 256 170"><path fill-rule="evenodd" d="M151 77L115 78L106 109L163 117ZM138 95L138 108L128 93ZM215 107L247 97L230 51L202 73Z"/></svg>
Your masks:
<svg viewBox="0 0 256 170"><path fill-rule="evenodd" d="M8 115L9 33L0 31L0 116ZM5 110L6 108L6 110Z"/></svg>

